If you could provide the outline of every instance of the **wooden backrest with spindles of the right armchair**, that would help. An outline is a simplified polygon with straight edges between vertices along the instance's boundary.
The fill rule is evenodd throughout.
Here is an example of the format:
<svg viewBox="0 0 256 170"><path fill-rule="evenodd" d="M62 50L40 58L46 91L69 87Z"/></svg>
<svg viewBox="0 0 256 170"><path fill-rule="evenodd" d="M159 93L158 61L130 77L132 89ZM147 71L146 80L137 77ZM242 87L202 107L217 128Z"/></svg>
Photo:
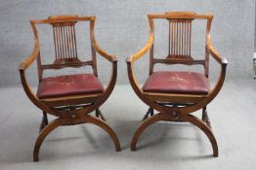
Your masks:
<svg viewBox="0 0 256 170"><path fill-rule="evenodd" d="M209 52L205 50L205 58L192 58L192 21L194 19L206 19L205 40L210 37L211 21L213 16L210 14L197 15L193 12L167 12L165 14L149 15L149 26L151 33L151 47L149 53L149 75L153 72L154 64L185 64L185 65L203 65L204 74L208 77ZM169 24L169 45L168 54L162 58L154 58L154 19L167 19ZM150 39L149 39L150 40ZM205 42L205 46L206 46Z"/></svg>

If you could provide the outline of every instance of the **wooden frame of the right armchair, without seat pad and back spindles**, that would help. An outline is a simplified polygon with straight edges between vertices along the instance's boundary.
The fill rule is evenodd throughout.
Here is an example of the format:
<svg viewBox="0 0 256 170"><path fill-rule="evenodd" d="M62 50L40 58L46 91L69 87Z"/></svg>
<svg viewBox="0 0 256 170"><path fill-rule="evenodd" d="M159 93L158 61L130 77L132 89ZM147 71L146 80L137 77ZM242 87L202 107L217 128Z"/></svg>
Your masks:
<svg viewBox="0 0 256 170"><path fill-rule="evenodd" d="M149 111L143 122L140 124L131 141L131 150L136 151L137 141L142 132L149 127L150 124L160 121L188 121L200 128L211 142L213 155L218 156L218 145L210 126L210 120L206 112L206 105L210 103L219 93L226 75L226 67L228 61L222 57L212 46L210 39L210 27L213 19L212 15L197 15L191 12L170 12L159 15L149 15L149 40L147 45L137 53L127 58L128 76L130 84L132 85L136 94L140 99L149 105ZM180 58L166 58L155 59L153 58L153 39L154 39L154 19L206 19L206 45L205 45L205 60L184 60ZM153 72L153 65L155 63L163 64L202 64L205 69L205 77L208 79L208 63L209 54L221 65L221 72L216 85L209 91L207 95L195 94L176 94L176 93L155 93L144 92L142 87L138 84L135 77L134 63L144 56L149 51L149 75ZM166 105L169 103L169 106ZM192 116L192 112L202 109L202 119ZM153 115L153 110L159 113ZM149 117L150 114L150 117ZM149 117L149 118L148 118Z"/></svg>

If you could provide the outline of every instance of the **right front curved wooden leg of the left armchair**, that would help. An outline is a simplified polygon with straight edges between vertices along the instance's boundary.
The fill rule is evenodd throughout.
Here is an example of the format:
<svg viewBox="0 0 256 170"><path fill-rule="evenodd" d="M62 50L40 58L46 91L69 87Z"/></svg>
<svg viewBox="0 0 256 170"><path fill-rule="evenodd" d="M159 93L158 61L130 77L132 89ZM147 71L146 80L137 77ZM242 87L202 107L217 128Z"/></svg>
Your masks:
<svg viewBox="0 0 256 170"><path fill-rule="evenodd" d="M117 136L116 136L115 132L112 130L112 128L104 120L96 119L96 118L93 118L90 116L84 117L84 118L82 118L82 120L85 122L95 124L95 125L101 127L102 129L104 129L107 132L107 134L111 137L111 139L114 143L116 152L121 151L119 139L117 138Z"/></svg>

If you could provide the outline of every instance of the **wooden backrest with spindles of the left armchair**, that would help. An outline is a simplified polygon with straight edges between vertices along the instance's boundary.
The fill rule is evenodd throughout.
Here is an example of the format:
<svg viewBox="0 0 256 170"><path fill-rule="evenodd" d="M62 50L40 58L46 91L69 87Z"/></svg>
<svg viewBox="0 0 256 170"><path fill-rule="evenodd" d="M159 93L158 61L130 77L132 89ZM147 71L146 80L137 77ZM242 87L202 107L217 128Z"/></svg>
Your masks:
<svg viewBox="0 0 256 170"><path fill-rule="evenodd" d="M77 54L76 32L75 26L77 22L90 22L90 43L92 58L90 60L80 60ZM39 43L37 25L49 24L53 27L55 60L51 64L42 64L40 53L37 57L37 69L39 81L42 80L43 70L45 69L63 69L65 67L82 67L91 66L95 76L97 72L96 51L92 47L92 39L94 39L94 22L95 17L78 17L78 16L52 16L46 19L32 19L31 26L34 33L35 42ZM39 46L39 44L38 44Z"/></svg>

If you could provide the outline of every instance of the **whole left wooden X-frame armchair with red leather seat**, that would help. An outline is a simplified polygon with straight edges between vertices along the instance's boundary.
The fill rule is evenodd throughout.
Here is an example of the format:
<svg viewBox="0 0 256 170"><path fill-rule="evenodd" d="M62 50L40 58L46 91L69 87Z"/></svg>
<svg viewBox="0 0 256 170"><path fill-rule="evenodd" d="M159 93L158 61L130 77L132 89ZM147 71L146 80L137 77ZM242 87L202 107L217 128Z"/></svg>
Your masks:
<svg viewBox="0 0 256 170"><path fill-rule="evenodd" d="M117 59L102 50L95 40L94 25L96 17L54 16L47 19L33 19L31 26L34 33L34 50L19 66L21 83L28 98L43 111L40 133L34 146L33 160L38 161L39 149L46 136L61 125L93 123L103 128L113 140L116 151L120 151L119 140L115 132L108 126L100 106L110 95L117 75ZM80 21L90 22L90 40L92 59L82 61L77 56L75 25ZM48 24L53 27L55 61L42 64L40 56L37 25ZM111 62L111 78L105 88L98 79L96 52ZM37 93L31 90L26 80L25 71L36 59L39 86ZM93 74L73 74L43 78L46 69L62 69L65 67L91 66ZM90 115L96 111L96 117ZM57 117L48 123L47 114Z"/></svg>

